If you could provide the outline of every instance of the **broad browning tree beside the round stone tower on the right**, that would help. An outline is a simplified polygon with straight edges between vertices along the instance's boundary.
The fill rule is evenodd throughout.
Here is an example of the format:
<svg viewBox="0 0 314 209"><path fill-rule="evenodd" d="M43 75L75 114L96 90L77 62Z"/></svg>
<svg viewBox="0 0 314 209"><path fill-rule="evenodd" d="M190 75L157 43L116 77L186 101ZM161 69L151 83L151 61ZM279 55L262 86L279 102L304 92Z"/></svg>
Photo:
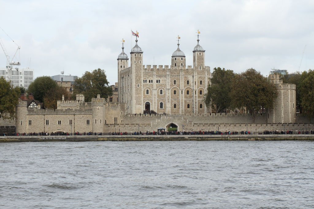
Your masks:
<svg viewBox="0 0 314 209"><path fill-rule="evenodd" d="M253 68L237 74L231 89L232 107L246 107L254 122L259 110L273 107L277 97L276 87Z"/></svg>

